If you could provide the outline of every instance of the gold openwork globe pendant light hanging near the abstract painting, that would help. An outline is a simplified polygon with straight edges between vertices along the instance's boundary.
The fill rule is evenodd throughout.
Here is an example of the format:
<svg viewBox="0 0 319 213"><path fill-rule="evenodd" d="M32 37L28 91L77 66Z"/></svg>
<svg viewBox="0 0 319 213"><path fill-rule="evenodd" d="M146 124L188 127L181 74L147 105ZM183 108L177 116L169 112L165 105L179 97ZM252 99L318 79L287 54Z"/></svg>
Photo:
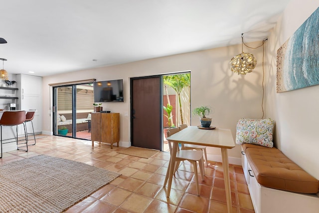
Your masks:
<svg viewBox="0 0 319 213"><path fill-rule="evenodd" d="M241 43L242 53L234 56L230 60L230 67L231 67L231 71L238 73L238 75L239 74L246 75L246 73L253 71L253 69L256 67L257 61L253 54L245 53L243 51L243 44L244 44L243 34L241 34L241 41L242 41Z"/></svg>

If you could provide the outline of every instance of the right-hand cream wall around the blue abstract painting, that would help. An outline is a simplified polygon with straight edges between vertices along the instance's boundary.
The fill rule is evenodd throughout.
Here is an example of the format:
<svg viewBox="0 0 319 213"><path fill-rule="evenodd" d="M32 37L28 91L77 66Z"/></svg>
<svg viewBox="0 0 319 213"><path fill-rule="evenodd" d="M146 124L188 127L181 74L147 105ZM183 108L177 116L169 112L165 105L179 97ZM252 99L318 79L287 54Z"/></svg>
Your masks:
<svg viewBox="0 0 319 213"><path fill-rule="evenodd" d="M267 116L276 122L276 147L317 179L319 85L276 93L276 52L318 6L318 0L293 0L272 30L267 45Z"/></svg>

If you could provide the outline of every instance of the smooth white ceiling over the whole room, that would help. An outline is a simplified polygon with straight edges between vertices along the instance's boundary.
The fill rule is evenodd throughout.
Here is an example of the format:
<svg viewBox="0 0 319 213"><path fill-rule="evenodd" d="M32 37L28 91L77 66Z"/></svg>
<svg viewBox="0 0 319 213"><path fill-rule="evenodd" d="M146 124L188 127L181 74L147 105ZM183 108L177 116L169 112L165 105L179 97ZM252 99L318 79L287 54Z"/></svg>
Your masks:
<svg viewBox="0 0 319 213"><path fill-rule="evenodd" d="M1 0L0 58L48 76L263 40L289 1Z"/></svg>

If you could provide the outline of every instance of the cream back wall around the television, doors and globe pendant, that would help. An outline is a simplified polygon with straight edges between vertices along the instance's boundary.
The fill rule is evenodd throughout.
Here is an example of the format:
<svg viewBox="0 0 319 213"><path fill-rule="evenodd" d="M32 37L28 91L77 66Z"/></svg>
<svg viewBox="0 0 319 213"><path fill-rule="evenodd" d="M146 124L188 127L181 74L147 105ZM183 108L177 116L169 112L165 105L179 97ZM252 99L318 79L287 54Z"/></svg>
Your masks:
<svg viewBox="0 0 319 213"><path fill-rule="evenodd" d="M241 40L241 35L238 35ZM250 43L251 46L261 42ZM130 142L130 119L124 117L130 112L130 77L191 71L191 108L210 105L214 109L211 115L212 125L231 129L235 140L236 123L240 118L261 118L262 103L262 48L244 51L255 54L257 67L247 75L237 75L230 71L229 61L241 52L241 44L236 46L209 49L173 56L137 61L127 64L101 67L54 76L43 77L43 131L52 131L52 121L48 114L52 105L49 97L49 83L75 81L96 78L124 80L124 103L103 103L103 110L119 112L121 119L121 142ZM192 125L200 125L197 117L191 118ZM241 164L240 146L229 150L230 163ZM209 148L209 159L221 161L219 148Z"/></svg>

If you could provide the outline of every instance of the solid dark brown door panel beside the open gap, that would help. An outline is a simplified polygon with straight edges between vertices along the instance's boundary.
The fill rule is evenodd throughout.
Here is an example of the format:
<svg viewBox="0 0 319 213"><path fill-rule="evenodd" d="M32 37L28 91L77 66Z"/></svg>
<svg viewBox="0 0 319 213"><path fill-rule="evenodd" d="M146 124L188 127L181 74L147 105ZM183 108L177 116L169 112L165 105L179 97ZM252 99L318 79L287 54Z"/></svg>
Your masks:
<svg viewBox="0 0 319 213"><path fill-rule="evenodd" d="M161 77L131 79L132 146L161 150Z"/></svg>

